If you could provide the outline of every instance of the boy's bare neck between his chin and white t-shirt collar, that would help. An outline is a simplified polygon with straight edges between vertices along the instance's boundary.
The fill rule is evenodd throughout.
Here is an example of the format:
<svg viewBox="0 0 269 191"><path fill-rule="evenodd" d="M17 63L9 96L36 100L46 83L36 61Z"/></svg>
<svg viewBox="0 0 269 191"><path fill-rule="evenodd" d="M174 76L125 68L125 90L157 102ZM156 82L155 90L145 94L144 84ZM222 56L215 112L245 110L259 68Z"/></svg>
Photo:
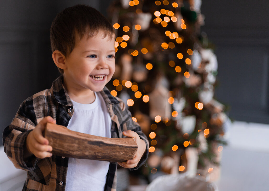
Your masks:
<svg viewBox="0 0 269 191"><path fill-rule="evenodd" d="M90 104L95 100L95 94L90 89L88 90L79 90L68 85L63 79L63 86L65 87L70 99L77 103Z"/></svg>

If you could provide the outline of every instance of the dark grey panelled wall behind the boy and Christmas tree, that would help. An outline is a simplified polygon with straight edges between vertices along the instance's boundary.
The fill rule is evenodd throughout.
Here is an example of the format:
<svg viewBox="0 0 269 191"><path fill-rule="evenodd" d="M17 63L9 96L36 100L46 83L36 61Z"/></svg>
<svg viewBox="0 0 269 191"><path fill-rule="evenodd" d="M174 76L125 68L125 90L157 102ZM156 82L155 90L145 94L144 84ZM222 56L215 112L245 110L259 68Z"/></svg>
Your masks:
<svg viewBox="0 0 269 191"><path fill-rule="evenodd" d="M146 0L144 0L146 1ZM106 15L109 0L13 0L0 3L0 132L20 103L50 88L59 76L49 42L52 20L66 7L83 3ZM218 58L215 98L229 105L233 120L269 124L269 3L202 1L201 13ZM2 145L2 136L0 138Z"/></svg>

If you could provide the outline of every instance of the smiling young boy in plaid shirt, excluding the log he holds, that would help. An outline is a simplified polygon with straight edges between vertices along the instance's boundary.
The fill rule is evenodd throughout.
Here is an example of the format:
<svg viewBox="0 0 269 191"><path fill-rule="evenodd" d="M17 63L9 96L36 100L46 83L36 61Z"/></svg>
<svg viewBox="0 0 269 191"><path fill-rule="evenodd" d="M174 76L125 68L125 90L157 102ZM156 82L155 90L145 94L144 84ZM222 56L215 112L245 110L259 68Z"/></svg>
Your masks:
<svg viewBox="0 0 269 191"><path fill-rule="evenodd" d="M51 89L26 99L3 132L5 153L27 171L23 190L116 190L116 163L52 155L42 135L46 123L97 136L133 137L134 159L118 164L134 170L145 162L146 136L105 87L115 71L114 42L113 27L94 8L76 5L56 16L52 58L62 75Z"/></svg>

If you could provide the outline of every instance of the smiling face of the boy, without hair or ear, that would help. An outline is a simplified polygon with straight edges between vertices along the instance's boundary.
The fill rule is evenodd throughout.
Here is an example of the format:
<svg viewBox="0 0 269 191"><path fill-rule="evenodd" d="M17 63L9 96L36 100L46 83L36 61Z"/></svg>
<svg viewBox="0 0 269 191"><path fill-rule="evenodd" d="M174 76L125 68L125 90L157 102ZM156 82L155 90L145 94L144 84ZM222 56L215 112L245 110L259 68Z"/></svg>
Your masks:
<svg viewBox="0 0 269 191"><path fill-rule="evenodd" d="M103 33L77 40L65 60L63 75L67 87L75 91L101 91L115 72L114 43L108 35L103 38Z"/></svg>

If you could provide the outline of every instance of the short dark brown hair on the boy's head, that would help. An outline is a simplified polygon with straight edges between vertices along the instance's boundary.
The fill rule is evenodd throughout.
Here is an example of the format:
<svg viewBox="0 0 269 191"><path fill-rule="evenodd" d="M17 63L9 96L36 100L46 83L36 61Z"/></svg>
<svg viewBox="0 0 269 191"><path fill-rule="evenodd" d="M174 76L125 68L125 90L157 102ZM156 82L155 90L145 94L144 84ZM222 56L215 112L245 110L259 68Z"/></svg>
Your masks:
<svg viewBox="0 0 269 191"><path fill-rule="evenodd" d="M64 9L51 24L51 50L61 51L68 56L75 47L76 40L85 35L88 38L102 32L104 38L108 35L115 38L111 23L98 10L87 5L75 5ZM63 70L58 68L60 73Z"/></svg>

